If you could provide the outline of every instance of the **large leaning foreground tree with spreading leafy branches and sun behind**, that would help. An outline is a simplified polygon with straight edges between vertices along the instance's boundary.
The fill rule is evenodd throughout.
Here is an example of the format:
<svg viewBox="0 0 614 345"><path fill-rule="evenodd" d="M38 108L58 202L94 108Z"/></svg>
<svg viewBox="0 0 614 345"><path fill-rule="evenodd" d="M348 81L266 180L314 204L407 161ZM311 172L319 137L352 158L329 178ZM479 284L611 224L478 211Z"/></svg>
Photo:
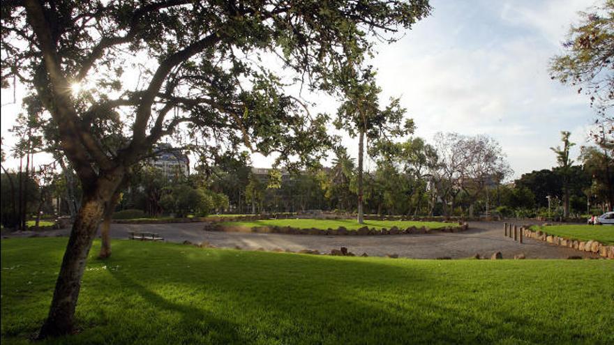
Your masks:
<svg viewBox="0 0 614 345"><path fill-rule="evenodd" d="M2 1L1 84L17 78L36 93L82 187L40 337L73 331L100 219L154 144L184 125L211 158L244 146L317 158L327 117L304 114L261 58L328 92L348 55L429 10L427 0Z"/></svg>

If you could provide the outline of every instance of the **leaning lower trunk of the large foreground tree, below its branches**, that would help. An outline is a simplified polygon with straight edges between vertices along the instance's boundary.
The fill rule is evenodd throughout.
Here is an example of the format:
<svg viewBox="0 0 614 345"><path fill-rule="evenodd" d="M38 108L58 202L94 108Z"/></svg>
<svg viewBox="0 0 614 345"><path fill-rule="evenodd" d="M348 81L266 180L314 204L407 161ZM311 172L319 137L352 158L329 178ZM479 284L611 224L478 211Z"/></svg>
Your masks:
<svg viewBox="0 0 614 345"><path fill-rule="evenodd" d="M87 197L84 195L82 207L75 217L75 223L72 231L70 231L70 238L62 259L49 315L40 329L39 339L67 335L74 330L75 307L81 288L81 278L105 204L105 201L96 193L92 194L87 195Z"/></svg>

